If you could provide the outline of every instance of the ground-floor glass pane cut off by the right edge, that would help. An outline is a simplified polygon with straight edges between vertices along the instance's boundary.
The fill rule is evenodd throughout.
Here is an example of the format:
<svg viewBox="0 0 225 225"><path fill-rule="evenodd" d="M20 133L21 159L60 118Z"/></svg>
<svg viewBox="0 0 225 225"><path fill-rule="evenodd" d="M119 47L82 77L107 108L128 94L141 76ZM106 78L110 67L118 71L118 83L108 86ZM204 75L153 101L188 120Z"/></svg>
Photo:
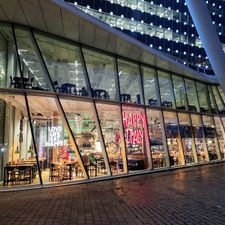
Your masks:
<svg viewBox="0 0 225 225"><path fill-rule="evenodd" d="M214 116L214 121L216 125L216 134L219 141L219 148L222 159L225 158L225 132L222 120L218 116Z"/></svg>

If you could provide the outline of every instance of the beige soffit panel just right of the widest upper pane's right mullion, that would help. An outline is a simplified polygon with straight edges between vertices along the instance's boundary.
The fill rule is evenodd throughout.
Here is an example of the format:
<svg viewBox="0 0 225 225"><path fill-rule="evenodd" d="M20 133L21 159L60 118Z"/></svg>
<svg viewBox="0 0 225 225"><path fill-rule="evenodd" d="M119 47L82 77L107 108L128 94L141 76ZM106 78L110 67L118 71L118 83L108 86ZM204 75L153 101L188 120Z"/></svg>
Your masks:
<svg viewBox="0 0 225 225"><path fill-rule="evenodd" d="M93 47L96 27L91 23L80 20L80 41Z"/></svg>

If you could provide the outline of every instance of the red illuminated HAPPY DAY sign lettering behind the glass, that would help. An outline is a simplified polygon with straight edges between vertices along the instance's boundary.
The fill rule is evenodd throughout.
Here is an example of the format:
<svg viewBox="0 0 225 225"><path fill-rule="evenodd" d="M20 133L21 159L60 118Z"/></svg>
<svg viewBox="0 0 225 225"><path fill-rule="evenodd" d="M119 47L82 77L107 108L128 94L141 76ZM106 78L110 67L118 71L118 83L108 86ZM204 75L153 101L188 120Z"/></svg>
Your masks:
<svg viewBox="0 0 225 225"><path fill-rule="evenodd" d="M127 144L143 143L144 128L146 127L145 121L145 115L141 113L123 112L123 127Z"/></svg>

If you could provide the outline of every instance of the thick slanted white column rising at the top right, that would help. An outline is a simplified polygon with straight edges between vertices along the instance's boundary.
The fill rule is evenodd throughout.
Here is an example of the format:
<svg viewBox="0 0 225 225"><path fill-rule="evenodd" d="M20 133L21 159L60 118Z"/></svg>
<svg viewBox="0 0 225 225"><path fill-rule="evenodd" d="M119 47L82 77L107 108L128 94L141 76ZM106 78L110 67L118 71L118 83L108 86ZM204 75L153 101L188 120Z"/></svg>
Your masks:
<svg viewBox="0 0 225 225"><path fill-rule="evenodd" d="M205 0L186 0L206 54L225 92L225 54Z"/></svg>

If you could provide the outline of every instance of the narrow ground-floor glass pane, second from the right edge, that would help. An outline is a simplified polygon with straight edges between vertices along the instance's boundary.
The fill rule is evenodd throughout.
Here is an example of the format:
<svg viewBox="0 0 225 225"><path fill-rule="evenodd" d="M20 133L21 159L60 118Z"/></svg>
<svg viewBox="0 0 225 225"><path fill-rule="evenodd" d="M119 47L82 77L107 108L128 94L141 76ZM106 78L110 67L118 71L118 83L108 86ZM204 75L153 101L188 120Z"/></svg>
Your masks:
<svg viewBox="0 0 225 225"><path fill-rule="evenodd" d="M218 159L218 143L216 137L216 128L211 116L202 116L206 145L209 153L209 160Z"/></svg>

